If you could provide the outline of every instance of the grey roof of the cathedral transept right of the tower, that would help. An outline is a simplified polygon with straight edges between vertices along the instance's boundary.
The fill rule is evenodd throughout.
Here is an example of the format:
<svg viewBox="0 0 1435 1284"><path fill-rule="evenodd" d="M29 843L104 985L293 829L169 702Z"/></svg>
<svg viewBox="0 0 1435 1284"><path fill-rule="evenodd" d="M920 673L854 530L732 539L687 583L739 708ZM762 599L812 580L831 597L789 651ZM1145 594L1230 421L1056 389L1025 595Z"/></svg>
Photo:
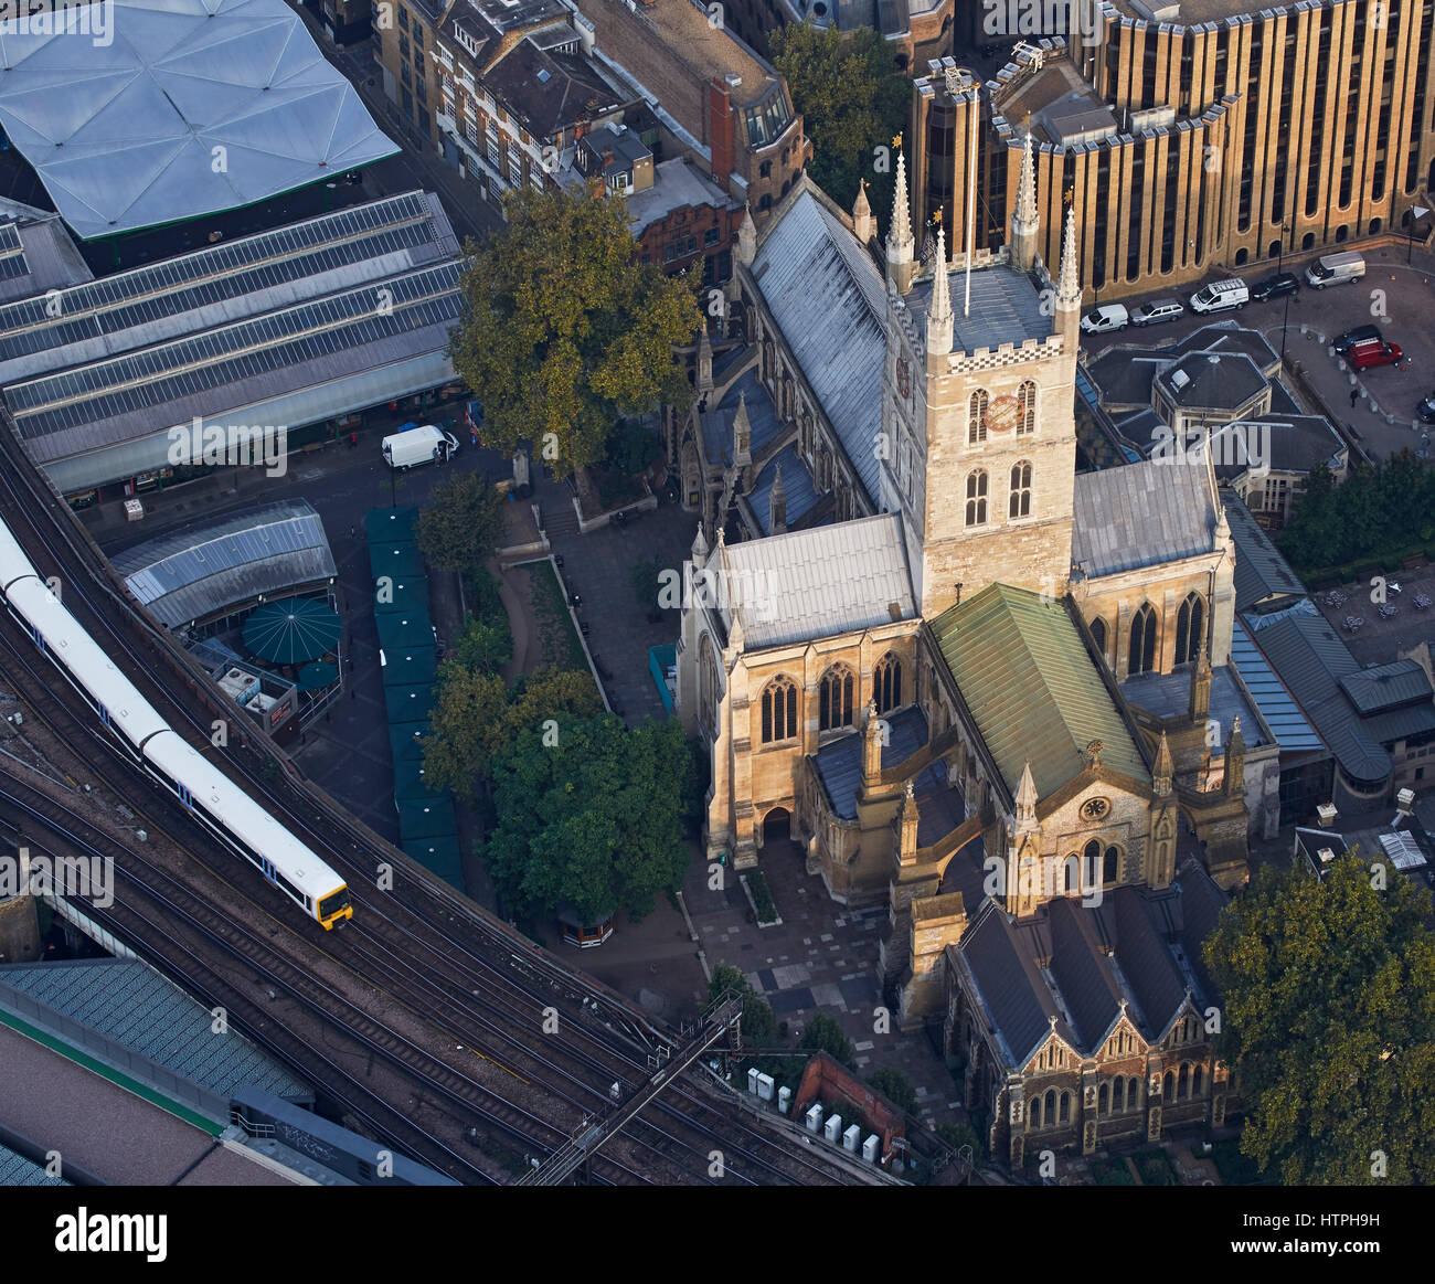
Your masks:
<svg viewBox="0 0 1435 1284"><path fill-rule="evenodd" d="M1155 459L1078 473L1072 564L1088 577L1211 552L1217 515L1207 469Z"/></svg>

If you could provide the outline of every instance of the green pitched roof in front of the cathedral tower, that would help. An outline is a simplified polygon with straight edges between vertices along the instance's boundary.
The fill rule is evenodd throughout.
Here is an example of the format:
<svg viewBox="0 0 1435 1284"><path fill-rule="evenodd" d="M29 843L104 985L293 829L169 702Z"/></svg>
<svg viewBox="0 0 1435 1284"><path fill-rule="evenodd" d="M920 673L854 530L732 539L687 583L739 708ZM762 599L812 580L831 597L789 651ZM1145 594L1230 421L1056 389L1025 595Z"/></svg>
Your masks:
<svg viewBox="0 0 1435 1284"><path fill-rule="evenodd" d="M931 630L1013 793L1027 760L1038 796L1055 793L1086 765L1092 740L1102 766L1151 779L1060 603L989 584Z"/></svg>

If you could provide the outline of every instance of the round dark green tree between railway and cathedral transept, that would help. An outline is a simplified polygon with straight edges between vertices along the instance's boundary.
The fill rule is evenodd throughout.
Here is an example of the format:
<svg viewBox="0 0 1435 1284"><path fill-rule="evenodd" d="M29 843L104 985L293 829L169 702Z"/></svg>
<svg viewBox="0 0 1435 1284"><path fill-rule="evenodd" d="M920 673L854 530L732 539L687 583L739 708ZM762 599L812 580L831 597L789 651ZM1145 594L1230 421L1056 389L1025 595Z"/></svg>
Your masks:
<svg viewBox="0 0 1435 1284"><path fill-rule="evenodd" d="M505 905L544 917L570 904L590 922L618 907L649 914L689 859L683 772L673 720L630 730L563 714L521 729L494 757L497 823L481 848Z"/></svg>

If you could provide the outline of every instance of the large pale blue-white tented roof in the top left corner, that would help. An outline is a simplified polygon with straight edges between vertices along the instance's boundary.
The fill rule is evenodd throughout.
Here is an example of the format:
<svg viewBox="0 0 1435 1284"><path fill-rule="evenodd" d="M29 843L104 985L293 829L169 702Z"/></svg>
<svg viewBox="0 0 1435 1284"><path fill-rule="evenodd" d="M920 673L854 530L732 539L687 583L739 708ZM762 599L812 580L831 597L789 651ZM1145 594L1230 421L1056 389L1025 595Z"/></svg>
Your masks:
<svg viewBox="0 0 1435 1284"><path fill-rule="evenodd" d="M77 30L0 34L0 128L82 240L251 205L397 151L284 0L69 13Z"/></svg>

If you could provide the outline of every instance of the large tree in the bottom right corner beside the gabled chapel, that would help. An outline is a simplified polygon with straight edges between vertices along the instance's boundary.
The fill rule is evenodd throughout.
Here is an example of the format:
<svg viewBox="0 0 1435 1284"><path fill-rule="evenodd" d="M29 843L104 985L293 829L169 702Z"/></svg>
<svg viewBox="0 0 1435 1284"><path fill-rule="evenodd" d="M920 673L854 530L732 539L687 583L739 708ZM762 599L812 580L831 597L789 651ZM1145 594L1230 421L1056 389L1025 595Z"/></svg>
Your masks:
<svg viewBox="0 0 1435 1284"><path fill-rule="evenodd" d="M1347 852L1325 878L1261 869L1205 944L1240 1075L1241 1152L1283 1185L1435 1178L1429 892Z"/></svg>

